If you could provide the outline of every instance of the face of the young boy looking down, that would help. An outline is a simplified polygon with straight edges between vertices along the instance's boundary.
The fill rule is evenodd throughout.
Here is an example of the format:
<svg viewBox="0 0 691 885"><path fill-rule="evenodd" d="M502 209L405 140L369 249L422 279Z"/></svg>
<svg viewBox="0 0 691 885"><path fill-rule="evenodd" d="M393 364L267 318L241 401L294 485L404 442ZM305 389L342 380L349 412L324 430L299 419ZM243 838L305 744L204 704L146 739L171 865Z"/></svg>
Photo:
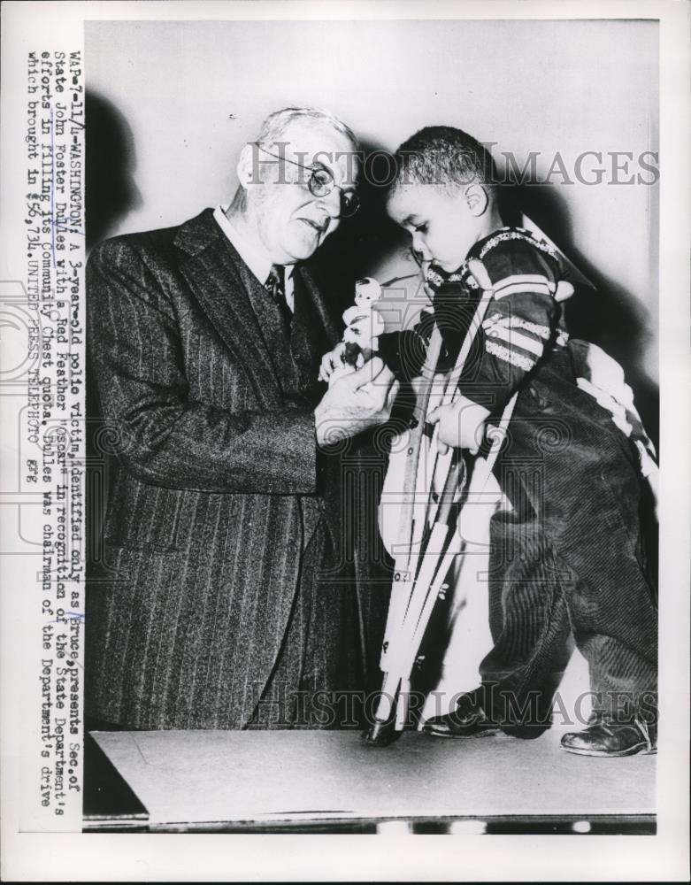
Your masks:
<svg viewBox="0 0 691 885"><path fill-rule="evenodd" d="M435 261L448 272L463 264L480 236L481 221L465 189L450 195L431 184L404 185L389 198L387 212L411 235L423 261Z"/></svg>

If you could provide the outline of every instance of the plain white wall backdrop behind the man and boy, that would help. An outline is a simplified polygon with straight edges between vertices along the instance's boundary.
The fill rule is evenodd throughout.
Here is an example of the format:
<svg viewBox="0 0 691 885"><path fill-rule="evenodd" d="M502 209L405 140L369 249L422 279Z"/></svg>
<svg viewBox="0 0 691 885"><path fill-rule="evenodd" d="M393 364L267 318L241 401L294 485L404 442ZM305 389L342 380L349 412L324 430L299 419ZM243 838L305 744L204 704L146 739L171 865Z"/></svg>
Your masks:
<svg viewBox="0 0 691 885"><path fill-rule="evenodd" d="M229 198L242 143L288 104L325 106L388 150L426 125L461 127L497 142L500 162L539 151L542 178L557 151L572 178L587 150L635 161L657 150L657 42L651 21L87 22L88 88L134 147L139 200L110 232L177 224ZM658 189L610 179L555 173L542 197L557 230L536 220L636 314L636 362L656 379Z"/></svg>

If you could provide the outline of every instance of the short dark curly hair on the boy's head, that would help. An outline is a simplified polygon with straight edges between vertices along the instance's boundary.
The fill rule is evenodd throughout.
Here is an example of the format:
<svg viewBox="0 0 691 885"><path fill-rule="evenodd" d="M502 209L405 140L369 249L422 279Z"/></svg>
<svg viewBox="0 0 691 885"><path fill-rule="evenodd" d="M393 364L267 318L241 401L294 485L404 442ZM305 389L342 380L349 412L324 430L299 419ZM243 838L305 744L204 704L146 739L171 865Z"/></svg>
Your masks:
<svg viewBox="0 0 691 885"><path fill-rule="evenodd" d="M396 150L389 193L406 184L432 184L454 193L472 181L488 188L496 181L488 149L462 129L427 126Z"/></svg>

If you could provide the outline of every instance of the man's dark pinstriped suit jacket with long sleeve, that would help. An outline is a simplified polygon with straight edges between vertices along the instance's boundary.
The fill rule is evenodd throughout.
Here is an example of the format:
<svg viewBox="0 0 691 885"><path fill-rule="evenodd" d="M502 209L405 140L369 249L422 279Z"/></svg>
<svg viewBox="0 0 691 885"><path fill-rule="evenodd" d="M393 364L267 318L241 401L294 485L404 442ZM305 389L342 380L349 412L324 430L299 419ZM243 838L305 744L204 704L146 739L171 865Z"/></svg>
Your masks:
<svg viewBox="0 0 691 885"><path fill-rule="evenodd" d="M118 456L88 589L88 715L246 725L280 654L303 550L320 520L342 534L338 468L324 469L313 417L319 359L340 335L303 267L294 360L279 321L211 210L116 237L89 259L89 352Z"/></svg>

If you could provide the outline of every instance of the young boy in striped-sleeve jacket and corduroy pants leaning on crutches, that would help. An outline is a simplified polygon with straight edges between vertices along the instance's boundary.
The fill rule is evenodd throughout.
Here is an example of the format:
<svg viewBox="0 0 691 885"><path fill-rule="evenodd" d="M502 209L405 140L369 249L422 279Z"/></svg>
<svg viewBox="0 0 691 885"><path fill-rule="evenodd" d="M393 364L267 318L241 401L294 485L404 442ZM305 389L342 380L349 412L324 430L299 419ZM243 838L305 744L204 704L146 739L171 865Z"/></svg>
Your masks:
<svg viewBox="0 0 691 885"><path fill-rule="evenodd" d="M491 156L470 135L427 127L396 159L388 213L427 266L447 366L481 294L470 259L482 262L494 291L461 376L462 396L429 416L439 440L477 450L518 394L495 466L512 508L491 524L495 645L480 665L480 689L462 696L456 712L429 720L426 731L534 735L531 727L549 722L573 635L589 666L593 712L585 729L564 735L564 750L654 751L656 589L639 518L639 454L576 383L578 350L568 344L555 298L563 278L557 252L503 227ZM526 721L531 697L538 705L528 705ZM536 709L538 722L530 720Z"/></svg>

